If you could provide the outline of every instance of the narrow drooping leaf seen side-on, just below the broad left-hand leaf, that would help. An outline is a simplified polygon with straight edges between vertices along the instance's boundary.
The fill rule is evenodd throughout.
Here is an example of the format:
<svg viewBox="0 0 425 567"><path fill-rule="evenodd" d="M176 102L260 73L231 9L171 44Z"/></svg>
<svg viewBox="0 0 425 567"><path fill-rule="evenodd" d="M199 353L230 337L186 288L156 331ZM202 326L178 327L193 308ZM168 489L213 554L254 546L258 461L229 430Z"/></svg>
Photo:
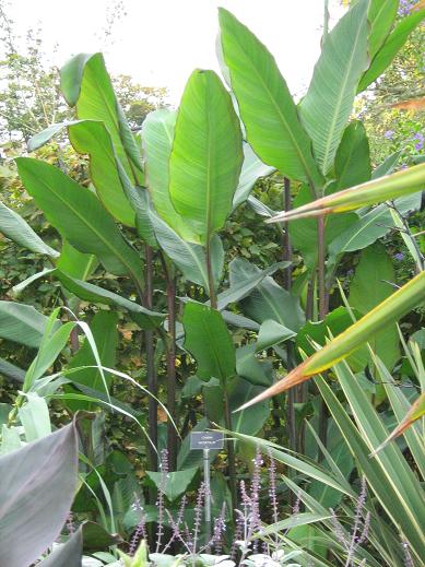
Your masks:
<svg viewBox="0 0 425 567"><path fill-rule="evenodd" d="M55 270L54 273L63 287L76 295L76 297L94 304L114 305L126 309L129 311L133 321L137 322L141 329L154 329L161 324L165 318L165 315L163 314L151 311L150 309L146 309L145 307L142 307L141 305L131 302L126 297L121 297L114 292L104 290L98 285L71 277L60 270Z"/></svg>

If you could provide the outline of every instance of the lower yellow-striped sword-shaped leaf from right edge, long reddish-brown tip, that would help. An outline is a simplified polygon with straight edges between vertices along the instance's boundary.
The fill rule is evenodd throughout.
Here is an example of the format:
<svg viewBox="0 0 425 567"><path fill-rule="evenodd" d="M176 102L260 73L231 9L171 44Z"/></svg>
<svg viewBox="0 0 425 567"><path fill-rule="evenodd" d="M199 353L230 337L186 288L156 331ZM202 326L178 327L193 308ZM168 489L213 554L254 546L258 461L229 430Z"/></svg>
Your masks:
<svg viewBox="0 0 425 567"><path fill-rule="evenodd" d="M362 344L367 343L379 330L390 323L394 323L400 317L408 314L424 299L425 271L400 287L400 290L390 295L385 302L380 303L362 319L349 327L349 329L329 342L323 349L304 361L304 363L294 370L291 370L282 380L240 409L288 390L293 386L308 380L311 376L331 368Z"/></svg>

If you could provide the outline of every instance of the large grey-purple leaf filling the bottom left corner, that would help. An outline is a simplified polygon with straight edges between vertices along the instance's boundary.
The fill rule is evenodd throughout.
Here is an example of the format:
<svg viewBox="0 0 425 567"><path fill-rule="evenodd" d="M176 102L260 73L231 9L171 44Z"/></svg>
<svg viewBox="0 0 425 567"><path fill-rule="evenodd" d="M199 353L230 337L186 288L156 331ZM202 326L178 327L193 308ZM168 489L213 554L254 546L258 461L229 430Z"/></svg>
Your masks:
<svg viewBox="0 0 425 567"><path fill-rule="evenodd" d="M68 425L0 457L0 556L27 567L59 535L76 489L78 440Z"/></svg>

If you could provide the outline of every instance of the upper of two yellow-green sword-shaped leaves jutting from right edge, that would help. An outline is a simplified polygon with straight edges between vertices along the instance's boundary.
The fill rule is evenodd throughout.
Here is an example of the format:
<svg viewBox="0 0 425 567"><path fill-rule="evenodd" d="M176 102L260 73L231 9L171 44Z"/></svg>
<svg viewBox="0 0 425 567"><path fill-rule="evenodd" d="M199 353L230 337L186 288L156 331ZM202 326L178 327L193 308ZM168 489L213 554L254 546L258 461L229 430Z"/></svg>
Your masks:
<svg viewBox="0 0 425 567"><path fill-rule="evenodd" d="M415 165L409 169L392 175L373 179L338 193L317 199L292 211L282 211L267 223L281 223L308 216L320 216L329 213L343 213L369 204L375 204L405 194L421 191L425 187L425 164Z"/></svg>

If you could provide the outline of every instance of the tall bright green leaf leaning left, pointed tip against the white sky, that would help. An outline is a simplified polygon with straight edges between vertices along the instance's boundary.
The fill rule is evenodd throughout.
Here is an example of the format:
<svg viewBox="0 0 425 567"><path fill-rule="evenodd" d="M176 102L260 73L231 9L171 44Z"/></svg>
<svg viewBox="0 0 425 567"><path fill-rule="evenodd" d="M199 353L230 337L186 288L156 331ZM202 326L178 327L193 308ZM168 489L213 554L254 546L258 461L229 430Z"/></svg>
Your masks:
<svg viewBox="0 0 425 567"><path fill-rule="evenodd" d="M311 142L273 56L233 14L220 9L221 47L247 139L281 174L312 186L322 184Z"/></svg>

